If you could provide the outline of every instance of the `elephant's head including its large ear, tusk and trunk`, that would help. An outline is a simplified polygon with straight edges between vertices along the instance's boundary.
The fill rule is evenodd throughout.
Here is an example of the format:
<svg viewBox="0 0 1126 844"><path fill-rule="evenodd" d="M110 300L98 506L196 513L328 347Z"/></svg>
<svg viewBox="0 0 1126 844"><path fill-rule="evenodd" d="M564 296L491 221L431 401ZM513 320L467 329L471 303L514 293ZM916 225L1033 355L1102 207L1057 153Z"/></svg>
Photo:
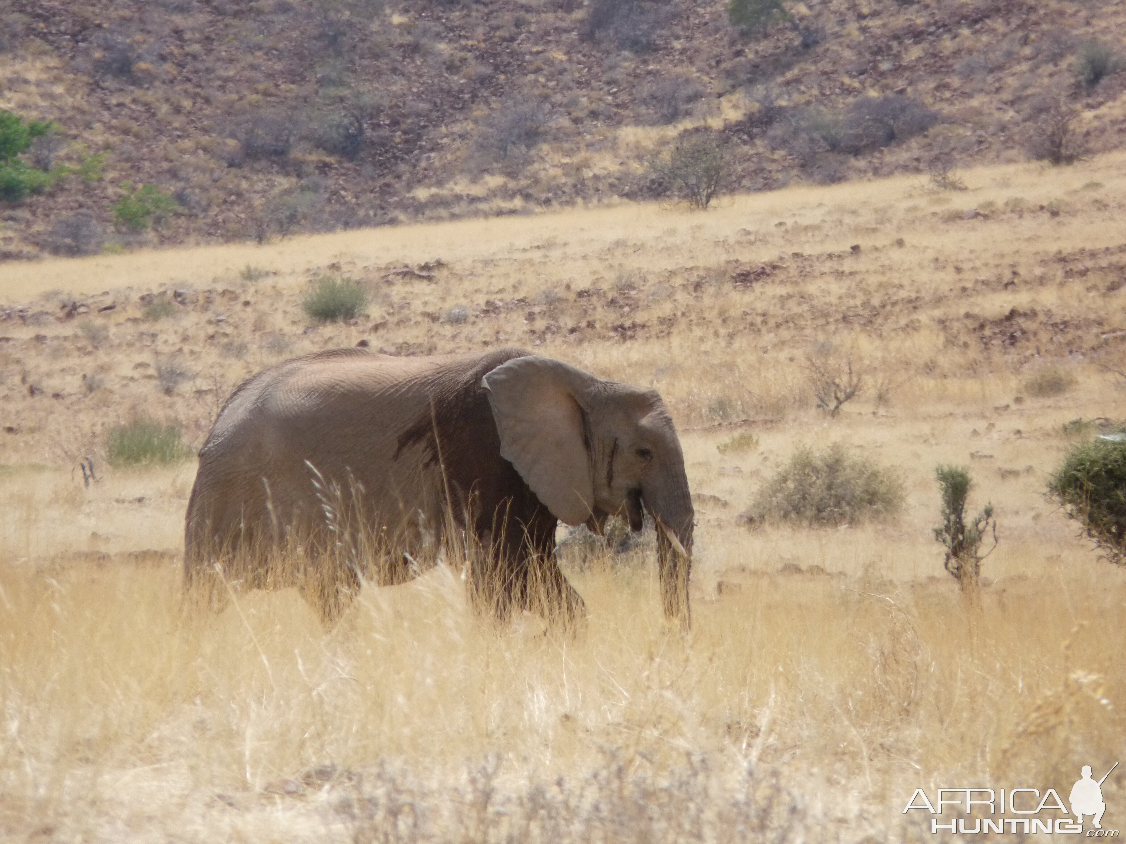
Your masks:
<svg viewBox="0 0 1126 844"><path fill-rule="evenodd" d="M652 389L606 381L551 358L513 358L484 376L501 456L568 524L601 530L643 509L656 522L664 612L689 623L692 503L672 419Z"/></svg>

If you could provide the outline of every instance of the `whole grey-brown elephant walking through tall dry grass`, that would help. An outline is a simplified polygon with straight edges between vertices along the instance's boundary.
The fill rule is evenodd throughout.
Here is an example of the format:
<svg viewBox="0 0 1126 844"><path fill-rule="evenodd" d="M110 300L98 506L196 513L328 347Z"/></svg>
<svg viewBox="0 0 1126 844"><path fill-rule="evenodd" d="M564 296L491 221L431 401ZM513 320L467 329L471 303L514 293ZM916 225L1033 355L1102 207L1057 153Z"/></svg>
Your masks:
<svg viewBox="0 0 1126 844"><path fill-rule="evenodd" d="M473 605L563 623L586 604L558 522L656 527L665 616L688 629L694 512L672 419L652 389L521 349L306 354L253 376L199 451L185 584L223 601L297 585L331 626L361 583L395 585L450 551ZM301 560L295 564L293 560Z"/></svg>

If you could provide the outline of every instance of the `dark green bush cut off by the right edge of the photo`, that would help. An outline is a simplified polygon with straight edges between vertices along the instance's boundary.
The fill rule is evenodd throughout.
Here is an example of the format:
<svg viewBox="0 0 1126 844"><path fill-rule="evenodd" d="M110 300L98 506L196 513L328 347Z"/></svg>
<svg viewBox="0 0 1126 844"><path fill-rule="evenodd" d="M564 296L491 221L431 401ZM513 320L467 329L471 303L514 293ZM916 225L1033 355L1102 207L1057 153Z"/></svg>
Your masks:
<svg viewBox="0 0 1126 844"><path fill-rule="evenodd" d="M1076 446L1048 482L1048 493L1114 562L1126 562L1126 441Z"/></svg>

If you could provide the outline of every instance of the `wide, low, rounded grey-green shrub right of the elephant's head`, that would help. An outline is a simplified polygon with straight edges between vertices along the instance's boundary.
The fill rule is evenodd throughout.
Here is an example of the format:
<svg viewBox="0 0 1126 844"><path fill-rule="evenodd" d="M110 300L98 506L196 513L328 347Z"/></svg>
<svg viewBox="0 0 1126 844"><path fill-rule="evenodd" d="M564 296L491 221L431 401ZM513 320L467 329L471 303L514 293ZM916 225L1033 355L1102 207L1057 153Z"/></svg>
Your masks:
<svg viewBox="0 0 1126 844"><path fill-rule="evenodd" d="M833 526L893 515L902 502L899 473L852 456L838 442L820 454L798 449L763 484L749 515L757 522Z"/></svg>

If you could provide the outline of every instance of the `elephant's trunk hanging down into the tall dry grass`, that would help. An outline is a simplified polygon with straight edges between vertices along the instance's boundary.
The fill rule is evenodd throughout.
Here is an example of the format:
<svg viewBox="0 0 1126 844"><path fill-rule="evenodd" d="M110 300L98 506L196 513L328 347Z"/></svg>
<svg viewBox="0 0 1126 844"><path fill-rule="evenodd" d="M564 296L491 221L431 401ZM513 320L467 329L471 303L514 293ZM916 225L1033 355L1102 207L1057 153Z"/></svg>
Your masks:
<svg viewBox="0 0 1126 844"><path fill-rule="evenodd" d="M645 509L656 522L656 562L661 578L664 614L687 630L691 623L688 605L688 578L692 567L692 512L688 481L667 486L653 485L642 491Z"/></svg>

